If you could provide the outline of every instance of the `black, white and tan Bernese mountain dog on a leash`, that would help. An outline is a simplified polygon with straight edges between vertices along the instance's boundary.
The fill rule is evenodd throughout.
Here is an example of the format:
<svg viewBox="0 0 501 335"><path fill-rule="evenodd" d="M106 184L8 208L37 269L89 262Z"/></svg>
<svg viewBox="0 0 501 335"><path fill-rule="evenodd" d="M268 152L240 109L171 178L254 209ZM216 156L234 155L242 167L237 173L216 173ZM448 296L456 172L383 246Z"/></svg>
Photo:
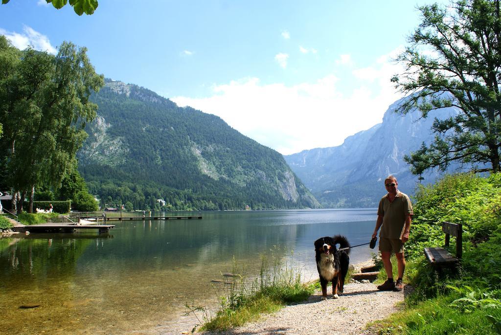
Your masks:
<svg viewBox="0 0 501 335"><path fill-rule="evenodd" d="M332 298L339 298L338 292L343 293L344 279L348 273L350 263L350 243L345 236L336 235L333 237L321 237L315 241L315 259L317 261L318 274L320 276L320 285L322 286L322 300L327 299L327 284L332 281Z"/></svg>

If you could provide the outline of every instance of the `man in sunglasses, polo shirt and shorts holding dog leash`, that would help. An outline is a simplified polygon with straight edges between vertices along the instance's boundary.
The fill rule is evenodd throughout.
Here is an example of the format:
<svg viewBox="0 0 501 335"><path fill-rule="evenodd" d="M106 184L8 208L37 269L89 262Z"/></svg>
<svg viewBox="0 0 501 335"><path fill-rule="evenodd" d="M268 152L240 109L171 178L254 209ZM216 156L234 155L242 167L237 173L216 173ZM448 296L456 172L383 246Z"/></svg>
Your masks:
<svg viewBox="0 0 501 335"><path fill-rule="evenodd" d="M398 183L394 176L388 176L384 180L384 186L388 193L379 201L376 228L372 238L376 237L377 231L383 226L379 233L379 251L381 251L388 280L377 288L382 291L401 291L404 288L402 282L405 270L404 243L409 240L410 222L413 215L412 204L407 194L397 189ZM393 281L391 251L394 251L397 257L398 278L396 282Z"/></svg>

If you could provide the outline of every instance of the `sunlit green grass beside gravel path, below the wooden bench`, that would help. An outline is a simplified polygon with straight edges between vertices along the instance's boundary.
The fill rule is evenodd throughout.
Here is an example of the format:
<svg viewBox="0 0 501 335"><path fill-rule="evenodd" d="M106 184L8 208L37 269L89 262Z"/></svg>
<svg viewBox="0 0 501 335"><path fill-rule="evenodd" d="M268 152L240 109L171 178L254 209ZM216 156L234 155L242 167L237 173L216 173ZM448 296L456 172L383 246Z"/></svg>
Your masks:
<svg viewBox="0 0 501 335"><path fill-rule="evenodd" d="M424 257L423 257L424 258ZM423 259L407 261L404 282L417 289L406 296L402 310L384 320L369 323L371 333L407 335L501 335L501 289L478 285L460 287L451 284L454 279L446 275L439 277L430 271L423 272ZM393 270L396 258L392 256ZM426 265L426 264L424 264ZM394 276L396 274L394 273ZM386 280L382 269L378 282ZM423 281L433 289L434 297L427 297Z"/></svg>

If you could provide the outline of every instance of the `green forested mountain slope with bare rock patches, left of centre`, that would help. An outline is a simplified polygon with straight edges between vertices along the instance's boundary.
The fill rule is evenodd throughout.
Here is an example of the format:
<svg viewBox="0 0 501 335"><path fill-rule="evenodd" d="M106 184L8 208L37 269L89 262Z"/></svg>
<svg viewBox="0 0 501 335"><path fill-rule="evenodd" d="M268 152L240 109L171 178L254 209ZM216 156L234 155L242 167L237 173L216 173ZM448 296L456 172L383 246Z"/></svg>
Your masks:
<svg viewBox="0 0 501 335"><path fill-rule="evenodd" d="M283 156L219 117L106 80L79 170L102 204L134 209L315 208Z"/></svg>

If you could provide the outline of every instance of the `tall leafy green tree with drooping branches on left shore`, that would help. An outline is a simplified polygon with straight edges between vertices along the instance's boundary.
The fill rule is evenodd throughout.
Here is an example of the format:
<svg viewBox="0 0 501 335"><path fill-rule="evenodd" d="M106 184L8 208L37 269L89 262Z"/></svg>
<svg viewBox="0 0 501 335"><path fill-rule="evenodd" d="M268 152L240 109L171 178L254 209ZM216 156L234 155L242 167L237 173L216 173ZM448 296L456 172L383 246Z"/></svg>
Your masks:
<svg viewBox="0 0 501 335"><path fill-rule="evenodd" d="M0 119L7 156L8 183L20 199L30 194L33 210L35 185L59 188L76 151L87 137L86 122L96 116L91 92L104 85L85 48L67 42L57 56L28 49L20 52L0 36ZM2 62L0 62L2 63ZM22 211L18 206L18 212Z"/></svg>

